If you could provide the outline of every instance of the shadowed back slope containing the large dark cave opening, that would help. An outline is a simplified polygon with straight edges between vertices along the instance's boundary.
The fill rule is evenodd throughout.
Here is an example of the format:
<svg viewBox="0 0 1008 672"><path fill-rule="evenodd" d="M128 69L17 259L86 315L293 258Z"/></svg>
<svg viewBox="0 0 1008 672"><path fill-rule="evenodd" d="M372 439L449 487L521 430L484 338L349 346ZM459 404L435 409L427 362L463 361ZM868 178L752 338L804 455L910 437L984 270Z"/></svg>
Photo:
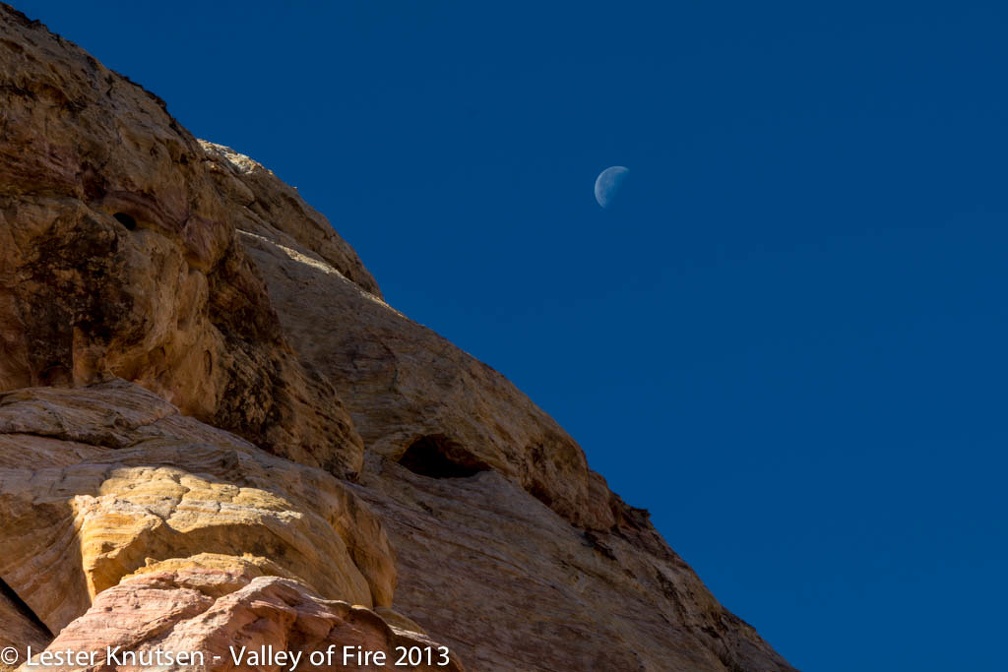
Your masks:
<svg viewBox="0 0 1008 672"><path fill-rule="evenodd" d="M291 344L371 451L357 491L397 549L400 612L476 669L791 669L503 376L308 246L245 226Z"/></svg>

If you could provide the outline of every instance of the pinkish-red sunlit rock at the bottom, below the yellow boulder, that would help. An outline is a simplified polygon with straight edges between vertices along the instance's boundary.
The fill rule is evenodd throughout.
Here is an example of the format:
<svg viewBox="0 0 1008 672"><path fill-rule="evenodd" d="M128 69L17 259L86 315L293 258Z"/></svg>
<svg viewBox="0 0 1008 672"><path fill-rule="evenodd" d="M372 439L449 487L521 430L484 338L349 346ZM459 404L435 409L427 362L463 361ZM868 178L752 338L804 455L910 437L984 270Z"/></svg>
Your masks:
<svg viewBox="0 0 1008 672"><path fill-rule="evenodd" d="M353 658L353 665L344 665L343 648L347 646L370 654L382 652L384 663L358 665ZM260 573L253 565L235 563L225 569L220 564L208 567L199 559L174 566L158 563L125 577L98 595L94 607L50 646L52 651L104 654L97 664L82 668L86 670L103 670L110 664L122 670L210 672L279 670L291 665L298 669L388 670L404 650L414 648L430 649L429 660L434 664L425 660L409 669L463 670L450 653L442 653L445 649L436 642L390 625L372 610L325 599L295 580ZM271 652L268 663L260 653L264 649ZM280 651L289 657L278 659L273 652ZM167 654L174 660L167 660ZM177 660L186 654L193 654L187 664L178 665ZM321 657L312 663L312 655ZM124 660L124 656L135 658ZM122 664L134 661L144 664Z"/></svg>

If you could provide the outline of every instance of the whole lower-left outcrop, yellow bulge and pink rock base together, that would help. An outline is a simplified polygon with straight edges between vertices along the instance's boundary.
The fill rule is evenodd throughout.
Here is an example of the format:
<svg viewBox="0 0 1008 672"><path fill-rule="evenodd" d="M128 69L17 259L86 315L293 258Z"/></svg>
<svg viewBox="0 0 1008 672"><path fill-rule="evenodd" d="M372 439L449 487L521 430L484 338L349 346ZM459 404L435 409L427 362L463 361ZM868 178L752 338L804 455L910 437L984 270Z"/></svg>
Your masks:
<svg viewBox="0 0 1008 672"><path fill-rule="evenodd" d="M346 485L122 381L0 399L0 624L24 650L203 652L229 670L248 669L235 643L438 646L392 611L392 549ZM434 667L461 669L448 659Z"/></svg>

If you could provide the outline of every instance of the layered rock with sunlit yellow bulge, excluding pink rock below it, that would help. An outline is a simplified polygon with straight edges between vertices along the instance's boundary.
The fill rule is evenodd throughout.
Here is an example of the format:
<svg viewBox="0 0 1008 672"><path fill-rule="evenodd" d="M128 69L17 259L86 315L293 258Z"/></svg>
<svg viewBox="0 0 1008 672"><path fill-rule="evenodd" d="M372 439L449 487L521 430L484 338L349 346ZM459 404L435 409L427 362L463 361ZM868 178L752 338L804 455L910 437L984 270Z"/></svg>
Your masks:
<svg viewBox="0 0 1008 672"><path fill-rule="evenodd" d="M0 398L0 576L52 633L123 576L203 553L366 607L390 606L396 581L380 521L343 483L121 381Z"/></svg>

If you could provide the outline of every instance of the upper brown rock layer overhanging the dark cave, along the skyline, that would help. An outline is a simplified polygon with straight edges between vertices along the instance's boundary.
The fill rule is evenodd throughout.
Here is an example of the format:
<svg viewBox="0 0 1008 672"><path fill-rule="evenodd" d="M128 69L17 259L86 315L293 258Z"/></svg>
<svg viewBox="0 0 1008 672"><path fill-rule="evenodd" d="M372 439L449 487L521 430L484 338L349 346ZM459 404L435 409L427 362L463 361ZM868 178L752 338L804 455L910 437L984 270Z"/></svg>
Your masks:
<svg viewBox="0 0 1008 672"><path fill-rule="evenodd" d="M220 174L265 193L283 188L249 159L205 147ZM282 213L284 203L271 212ZM284 215L281 222L290 219ZM581 447L507 379L271 222L236 217L241 245L265 278L302 365L334 382L369 449L449 473L494 469L576 525L616 523L623 508Z"/></svg>

